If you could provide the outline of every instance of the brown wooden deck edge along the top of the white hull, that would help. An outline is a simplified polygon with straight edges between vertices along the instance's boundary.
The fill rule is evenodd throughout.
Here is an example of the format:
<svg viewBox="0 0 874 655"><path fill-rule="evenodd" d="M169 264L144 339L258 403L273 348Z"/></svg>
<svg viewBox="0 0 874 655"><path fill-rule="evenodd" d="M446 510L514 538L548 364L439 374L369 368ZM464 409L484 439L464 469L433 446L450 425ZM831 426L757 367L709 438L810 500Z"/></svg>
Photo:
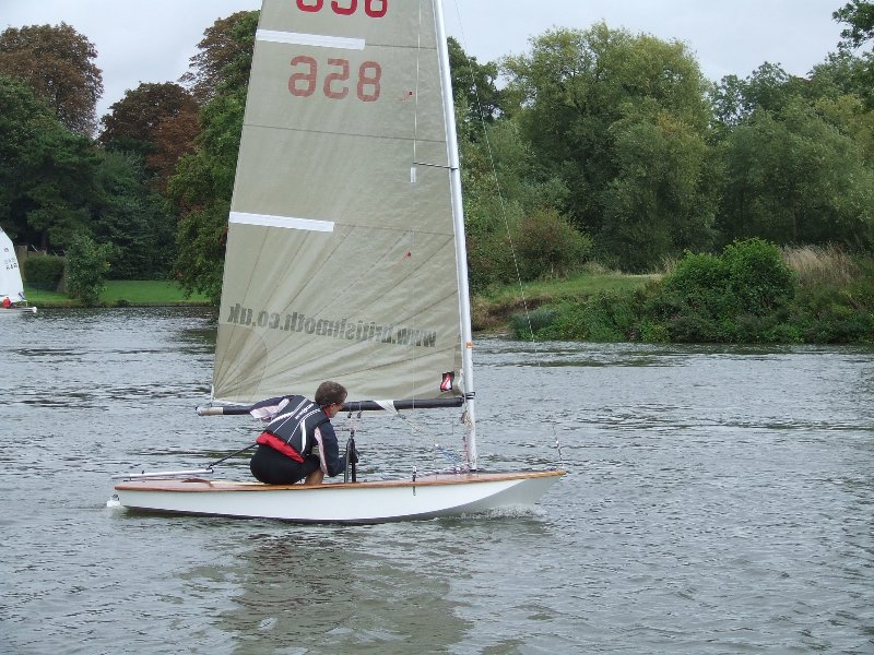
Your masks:
<svg viewBox="0 0 874 655"><path fill-rule="evenodd" d="M336 489L375 489L391 487L436 487L462 484L501 483L524 480L539 477L556 477L565 475L564 471L530 471L517 473L466 473L427 475L413 481L378 480L365 483L328 483L324 485L263 485L261 483L194 479L160 479L129 480L119 483L115 488L119 491L177 491L186 493L203 493L216 491L328 491Z"/></svg>

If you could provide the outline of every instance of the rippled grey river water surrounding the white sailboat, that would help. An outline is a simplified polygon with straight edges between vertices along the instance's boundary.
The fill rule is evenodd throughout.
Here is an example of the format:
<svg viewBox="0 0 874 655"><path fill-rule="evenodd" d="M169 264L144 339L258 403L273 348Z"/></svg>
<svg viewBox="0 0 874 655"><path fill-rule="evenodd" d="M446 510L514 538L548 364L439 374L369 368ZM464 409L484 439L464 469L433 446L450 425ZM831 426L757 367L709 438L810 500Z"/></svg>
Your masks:
<svg viewBox="0 0 874 655"><path fill-rule="evenodd" d="M0 652L874 653L874 349L480 338L481 465L568 469L531 514L107 508L253 437L194 415L213 344L202 310L2 317ZM365 476L444 466L454 418L366 418Z"/></svg>

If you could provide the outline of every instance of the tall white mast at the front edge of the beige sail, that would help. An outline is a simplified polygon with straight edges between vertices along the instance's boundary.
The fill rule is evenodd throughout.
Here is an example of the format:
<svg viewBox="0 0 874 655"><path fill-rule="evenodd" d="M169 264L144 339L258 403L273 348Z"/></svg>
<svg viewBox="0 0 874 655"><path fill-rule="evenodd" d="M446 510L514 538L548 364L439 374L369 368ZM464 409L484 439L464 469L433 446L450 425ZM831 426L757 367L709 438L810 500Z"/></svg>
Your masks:
<svg viewBox="0 0 874 655"><path fill-rule="evenodd" d="M458 275L458 301L461 314L461 370L464 396L468 401L468 462L476 471L476 414L473 389L473 335L471 330L471 297L468 285L468 248L464 241L464 209L461 199L461 167L458 154L456 108L452 103L452 79L449 71L449 46L446 40L442 0L434 0L434 17L437 23L437 53L440 60L440 76L446 121L446 144L449 156L450 187L452 189L452 221L456 227L456 272Z"/></svg>

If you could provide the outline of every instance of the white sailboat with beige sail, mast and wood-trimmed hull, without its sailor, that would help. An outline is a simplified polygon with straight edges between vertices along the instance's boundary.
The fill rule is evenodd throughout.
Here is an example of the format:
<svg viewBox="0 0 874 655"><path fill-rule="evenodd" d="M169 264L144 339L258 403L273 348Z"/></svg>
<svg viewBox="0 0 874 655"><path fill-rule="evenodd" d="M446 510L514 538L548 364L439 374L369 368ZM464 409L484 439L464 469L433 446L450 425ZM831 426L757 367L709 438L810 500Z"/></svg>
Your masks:
<svg viewBox="0 0 874 655"><path fill-rule="evenodd" d="M464 464L397 480L123 476L157 512L377 523L531 508L564 472L481 471L459 154L440 0L264 0L204 415L311 397L462 413Z"/></svg>

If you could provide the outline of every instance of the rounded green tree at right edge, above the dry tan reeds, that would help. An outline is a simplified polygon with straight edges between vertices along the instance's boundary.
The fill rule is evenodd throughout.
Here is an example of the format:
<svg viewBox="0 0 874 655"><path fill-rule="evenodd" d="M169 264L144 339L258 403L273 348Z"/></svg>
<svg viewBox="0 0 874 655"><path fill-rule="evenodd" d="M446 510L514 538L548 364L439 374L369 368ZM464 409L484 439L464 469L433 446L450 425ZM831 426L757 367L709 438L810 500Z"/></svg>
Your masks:
<svg viewBox="0 0 874 655"><path fill-rule="evenodd" d="M721 152L727 240L871 246L874 174L864 152L803 99L754 115Z"/></svg>

